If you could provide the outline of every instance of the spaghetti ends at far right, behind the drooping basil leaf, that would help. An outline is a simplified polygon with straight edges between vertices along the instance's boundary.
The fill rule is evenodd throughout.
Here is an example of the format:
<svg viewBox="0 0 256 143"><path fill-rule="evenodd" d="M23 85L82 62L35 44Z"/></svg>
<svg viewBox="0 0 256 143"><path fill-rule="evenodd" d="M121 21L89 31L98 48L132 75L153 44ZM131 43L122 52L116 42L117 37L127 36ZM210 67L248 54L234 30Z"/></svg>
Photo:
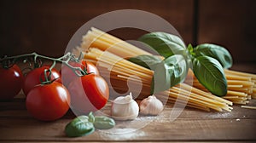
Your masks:
<svg viewBox="0 0 256 143"><path fill-rule="evenodd" d="M245 105L249 102L249 100L252 99L252 96L255 95L255 81L253 81L253 76L255 77L255 75L247 74L244 72L242 72L241 75L234 73L241 72L225 70L225 77L227 78L228 83L228 91L227 94L222 98L230 100L235 104ZM193 82L193 86L195 88L209 93L209 91L196 79L191 70L189 71L189 76L193 76L193 81L187 79L185 83Z"/></svg>

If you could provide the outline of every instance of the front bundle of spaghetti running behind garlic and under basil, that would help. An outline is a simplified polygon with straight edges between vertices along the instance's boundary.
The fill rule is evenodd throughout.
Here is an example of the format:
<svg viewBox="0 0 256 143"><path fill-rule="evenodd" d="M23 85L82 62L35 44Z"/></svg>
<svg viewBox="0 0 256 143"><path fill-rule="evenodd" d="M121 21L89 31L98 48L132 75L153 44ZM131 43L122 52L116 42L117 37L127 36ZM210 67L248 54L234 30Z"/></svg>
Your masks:
<svg viewBox="0 0 256 143"><path fill-rule="evenodd" d="M127 92L126 83L129 79L135 87L142 86L141 90L129 89L133 94L140 95L138 99L143 99L150 94L153 71L138 66L118 55L96 48L90 48L84 54L84 59L96 63L102 77L107 78L107 81L110 79L108 84L118 93ZM205 111L213 109L222 112L232 109L230 107L232 102L195 89L185 83L180 83L176 87L166 90L164 94L157 94L157 97L161 100L168 100L169 103L177 101L179 104L186 104L186 106Z"/></svg>

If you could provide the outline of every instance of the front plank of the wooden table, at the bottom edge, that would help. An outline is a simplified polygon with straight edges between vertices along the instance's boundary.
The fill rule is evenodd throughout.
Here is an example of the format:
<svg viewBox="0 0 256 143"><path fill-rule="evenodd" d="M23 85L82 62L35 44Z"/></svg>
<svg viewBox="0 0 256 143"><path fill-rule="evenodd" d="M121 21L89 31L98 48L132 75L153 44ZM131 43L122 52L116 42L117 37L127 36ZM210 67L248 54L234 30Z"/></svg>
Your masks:
<svg viewBox="0 0 256 143"><path fill-rule="evenodd" d="M178 140L256 140L253 132L255 119L212 119L183 120L170 122L166 119L156 119L142 129L129 132L132 128L119 126L119 134L97 130L94 134L79 138L67 138L64 134L65 125L70 119L44 123L32 118L15 119L0 118L0 139L5 141L178 141ZM134 121L143 123L143 119Z"/></svg>

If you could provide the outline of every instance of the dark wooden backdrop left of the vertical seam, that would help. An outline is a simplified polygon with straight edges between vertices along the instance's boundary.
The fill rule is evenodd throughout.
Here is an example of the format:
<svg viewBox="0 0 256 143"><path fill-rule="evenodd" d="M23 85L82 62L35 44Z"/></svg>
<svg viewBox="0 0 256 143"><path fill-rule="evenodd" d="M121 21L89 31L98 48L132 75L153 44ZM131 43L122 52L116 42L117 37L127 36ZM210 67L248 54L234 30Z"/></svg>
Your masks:
<svg viewBox="0 0 256 143"><path fill-rule="evenodd" d="M3 0L0 9L0 54L37 51L49 56L60 56L80 26L100 14L118 9L140 9L157 14L177 28L187 43L191 43L192 6L193 0L186 3L179 0L163 0L160 3L154 0ZM137 32L114 31L113 34L122 38L138 37Z"/></svg>

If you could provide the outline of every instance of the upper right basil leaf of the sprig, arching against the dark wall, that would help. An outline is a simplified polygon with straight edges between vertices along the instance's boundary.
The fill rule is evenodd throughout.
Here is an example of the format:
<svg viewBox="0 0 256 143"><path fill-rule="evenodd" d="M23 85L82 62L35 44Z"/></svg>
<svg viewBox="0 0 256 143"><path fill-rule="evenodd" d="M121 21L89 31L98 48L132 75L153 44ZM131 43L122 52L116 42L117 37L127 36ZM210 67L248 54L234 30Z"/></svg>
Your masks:
<svg viewBox="0 0 256 143"><path fill-rule="evenodd" d="M224 47L215 44L200 44L193 50L193 52L195 53L195 56L207 55L218 60L224 68L230 68L233 63L230 52L227 49L224 49Z"/></svg>

